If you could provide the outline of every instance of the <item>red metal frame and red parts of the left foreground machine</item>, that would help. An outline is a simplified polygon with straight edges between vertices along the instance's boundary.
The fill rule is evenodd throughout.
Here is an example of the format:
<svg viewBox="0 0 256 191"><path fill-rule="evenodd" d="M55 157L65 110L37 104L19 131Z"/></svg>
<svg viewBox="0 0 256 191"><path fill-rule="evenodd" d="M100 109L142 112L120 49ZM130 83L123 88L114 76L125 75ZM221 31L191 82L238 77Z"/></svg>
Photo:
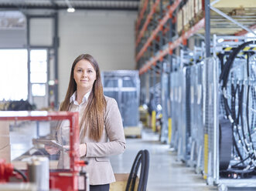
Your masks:
<svg viewBox="0 0 256 191"><path fill-rule="evenodd" d="M0 112L0 121L49 121L64 120L70 122L70 169L55 169L49 172L49 188L60 190L78 190L78 179L80 177L80 166L84 161L79 157L79 127L77 112ZM6 164L0 159L0 183L9 182L9 177L22 178L20 173L15 172L12 164ZM24 179L24 177L23 177ZM85 188L86 186L84 186ZM85 189L84 189L85 190Z"/></svg>

